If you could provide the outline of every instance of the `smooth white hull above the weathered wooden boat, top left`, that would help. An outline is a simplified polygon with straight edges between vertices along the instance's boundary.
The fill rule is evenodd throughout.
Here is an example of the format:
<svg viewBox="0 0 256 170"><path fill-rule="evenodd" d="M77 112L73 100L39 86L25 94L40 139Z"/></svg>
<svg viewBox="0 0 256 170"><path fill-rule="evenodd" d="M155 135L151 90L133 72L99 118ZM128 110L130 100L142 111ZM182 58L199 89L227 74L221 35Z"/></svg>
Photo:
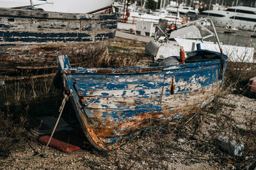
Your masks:
<svg viewBox="0 0 256 170"><path fill-rule="evenodd" d="M32 4L31 4L32 2ZM35 6L44 11L63 13L89 13L111 5L113 0L0 0L1 8L26 8Z"/></svg>

